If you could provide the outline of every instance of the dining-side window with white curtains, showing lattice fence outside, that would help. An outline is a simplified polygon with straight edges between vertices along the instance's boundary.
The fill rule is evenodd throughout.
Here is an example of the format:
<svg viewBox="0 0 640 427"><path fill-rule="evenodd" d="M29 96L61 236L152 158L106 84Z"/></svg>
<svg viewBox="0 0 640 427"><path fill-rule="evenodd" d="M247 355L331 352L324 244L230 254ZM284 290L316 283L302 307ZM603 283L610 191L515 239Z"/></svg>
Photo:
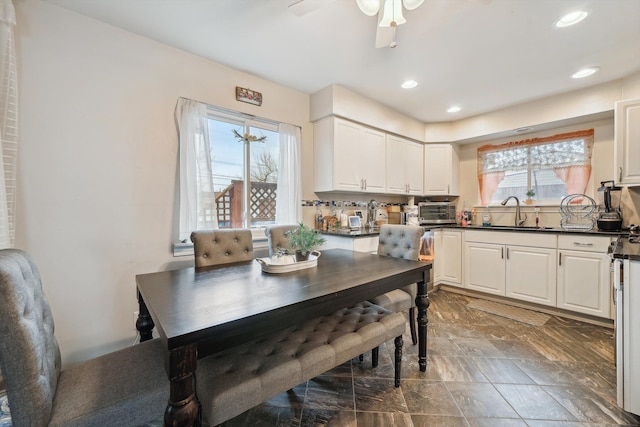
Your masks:
<svg viewBox="0 0 640 427"><path fill-rule="evenodd" d="M175 116L181 242L194 230L300 221L300 127L187 98Z"/></svg>

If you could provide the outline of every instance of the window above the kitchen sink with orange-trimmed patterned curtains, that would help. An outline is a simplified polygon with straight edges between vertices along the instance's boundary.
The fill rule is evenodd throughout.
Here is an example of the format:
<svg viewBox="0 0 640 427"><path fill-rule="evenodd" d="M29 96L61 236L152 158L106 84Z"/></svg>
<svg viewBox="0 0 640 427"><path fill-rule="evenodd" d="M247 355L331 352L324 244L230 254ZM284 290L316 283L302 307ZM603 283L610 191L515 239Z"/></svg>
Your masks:
<svg viewBox="0 0 640 427"><path fill-rule="evenodd" d="M593 129L478 148L483 205L508 196L559 203L583 194L591 176Z"/></svg>

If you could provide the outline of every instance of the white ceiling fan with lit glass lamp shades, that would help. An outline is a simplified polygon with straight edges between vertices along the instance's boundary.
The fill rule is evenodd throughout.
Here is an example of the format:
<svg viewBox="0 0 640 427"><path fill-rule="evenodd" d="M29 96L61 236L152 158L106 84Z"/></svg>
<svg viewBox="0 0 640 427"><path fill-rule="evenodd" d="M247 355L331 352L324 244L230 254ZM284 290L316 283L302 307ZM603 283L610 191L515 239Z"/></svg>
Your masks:
<svg viewBox="0 0 640 427"><path fill-rule="evenodd" d="M297 0L289 5L289 10L298 16L318 9L335 0ZM489 4L491 0L467 0L474 3ZM376 47L395 48L396 28L407 22L402 14L403 8L414 10L424 3L424 0L356 0L358 7L367 16L378 15L376 26Z"/></svg>

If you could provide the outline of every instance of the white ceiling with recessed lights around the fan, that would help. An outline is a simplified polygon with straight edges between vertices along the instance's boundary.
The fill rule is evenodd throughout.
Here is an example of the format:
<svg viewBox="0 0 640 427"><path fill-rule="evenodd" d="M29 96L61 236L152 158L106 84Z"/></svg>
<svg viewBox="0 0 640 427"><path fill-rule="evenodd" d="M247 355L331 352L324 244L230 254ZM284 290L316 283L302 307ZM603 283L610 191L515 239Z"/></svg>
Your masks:
<svg viewBox="0 0 640 427"><path fill-rule="evenodd" d="M638 0L425 0L395 49L355 0L46 0L312 94L336 83L423 122L459 120L640 71ZM576 8L578 25L554 22ZM598 66L584 79L570 76ZM406 79L418 82L402 89ZM260 88L252 88L260 90ZM458 113L446 110L458 105Z"/></svg>

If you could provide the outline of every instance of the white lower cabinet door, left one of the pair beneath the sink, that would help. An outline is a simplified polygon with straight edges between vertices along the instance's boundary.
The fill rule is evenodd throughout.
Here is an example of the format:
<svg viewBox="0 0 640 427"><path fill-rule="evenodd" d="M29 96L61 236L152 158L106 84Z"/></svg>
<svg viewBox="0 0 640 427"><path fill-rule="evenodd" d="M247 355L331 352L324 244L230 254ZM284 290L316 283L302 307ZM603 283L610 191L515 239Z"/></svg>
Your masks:
<svg viewBox="0 0 640 427"><path fill-rule="evenodd" d="M466 242L464 265L465 288L505 295L504 245Z"/></svg>

